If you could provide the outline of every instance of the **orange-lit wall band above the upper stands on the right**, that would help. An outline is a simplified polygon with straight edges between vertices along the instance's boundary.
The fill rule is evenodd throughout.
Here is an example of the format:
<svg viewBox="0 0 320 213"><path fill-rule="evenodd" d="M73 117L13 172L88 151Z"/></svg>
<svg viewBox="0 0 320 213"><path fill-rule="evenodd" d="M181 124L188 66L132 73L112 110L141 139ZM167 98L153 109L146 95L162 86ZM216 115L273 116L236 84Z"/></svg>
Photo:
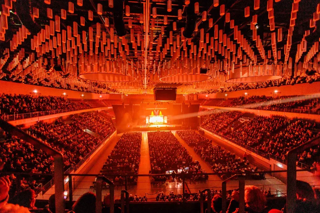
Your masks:
<svg viewBox="0 0 320 213"><path fill-rule="evenodd" d="M312 84L303 83L296 84L294 86L285 85L281 87L268 87L268 88L260 88L260 89L249 89L249 90L240 90L234 92L227 93L216 93L216 94L199 94L199 98L206 98L205 95L208 95L208 98L225 98L225 94L228 94L228 98L234 98L244 95L244 93L248 93L249 96L252 95L266 95L272 96L275 90L280 92L280 96L284 95L308 95L320 93L320 82L314 82Z"/></svg>

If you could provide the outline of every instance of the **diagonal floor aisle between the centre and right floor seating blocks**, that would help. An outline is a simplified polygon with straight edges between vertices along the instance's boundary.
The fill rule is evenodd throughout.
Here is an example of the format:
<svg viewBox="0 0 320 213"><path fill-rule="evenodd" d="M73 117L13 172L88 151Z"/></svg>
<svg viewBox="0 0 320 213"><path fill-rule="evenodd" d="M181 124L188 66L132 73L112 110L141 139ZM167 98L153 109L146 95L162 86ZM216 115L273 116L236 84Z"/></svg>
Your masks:
<svg viewBox="0 0 320 213"><path fill-rule="evenodd" d="M204 160L202 160L201 157L196 154L193 148L191 148L184 140L182 140L180 136L176 134L175 131L172 131L172 133L174 134L174 136L176 136L176 138L182 144L182 146L184 146L188 150L189 155L192 156L192 159L199 161L204 171L206 171L207 173L213 173L213 170L211 169L210 165L207 164ZM204 188L221 187L221 183L222 180L218 177L218 175L209 175L208 181L205 182L199 181L196 184L191 184L187 182L192 193L198 192L199 189L202 190Z"/></svg>

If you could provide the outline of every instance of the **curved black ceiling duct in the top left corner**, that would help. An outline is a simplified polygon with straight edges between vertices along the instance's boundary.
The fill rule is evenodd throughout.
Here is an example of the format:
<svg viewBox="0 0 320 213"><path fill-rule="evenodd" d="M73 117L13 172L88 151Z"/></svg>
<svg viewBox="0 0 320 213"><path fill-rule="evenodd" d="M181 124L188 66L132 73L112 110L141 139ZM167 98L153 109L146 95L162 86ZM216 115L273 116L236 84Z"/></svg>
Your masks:
<svg viewBox="0 0 320 213"><path fill-rule="evenodd" d="M24 25L31 34L40 32L41 27L31 17L31 1L18 0L15 4L17 15L20 17L22 25Z"/></svg>

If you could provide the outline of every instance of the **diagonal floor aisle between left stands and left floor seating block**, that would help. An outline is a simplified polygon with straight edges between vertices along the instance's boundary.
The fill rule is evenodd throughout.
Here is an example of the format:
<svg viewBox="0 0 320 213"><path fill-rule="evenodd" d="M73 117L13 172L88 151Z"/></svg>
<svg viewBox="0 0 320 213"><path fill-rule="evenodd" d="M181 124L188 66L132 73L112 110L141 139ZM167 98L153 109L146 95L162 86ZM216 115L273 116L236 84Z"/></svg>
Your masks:
<svg viewBox="0 0 320 213"><path fill-rule="evenodd" d="M115 147L117 141L120 139L122 133L118 134L116 137L112 139L104 148L102 148L86 165L87 171L81 171L82 174L99 174L103 163L107 159L108 155ZM80 183L76 184L76 189L73 191L73 200L76 201L82 194L90 191L90 186L92 186L92 182L95 180L94 176L84 177L81 179ZM91 190L91 192L93 192ZM95 192L93 192L95 193ZM103 192L102 192L103 194Z"/></svg>

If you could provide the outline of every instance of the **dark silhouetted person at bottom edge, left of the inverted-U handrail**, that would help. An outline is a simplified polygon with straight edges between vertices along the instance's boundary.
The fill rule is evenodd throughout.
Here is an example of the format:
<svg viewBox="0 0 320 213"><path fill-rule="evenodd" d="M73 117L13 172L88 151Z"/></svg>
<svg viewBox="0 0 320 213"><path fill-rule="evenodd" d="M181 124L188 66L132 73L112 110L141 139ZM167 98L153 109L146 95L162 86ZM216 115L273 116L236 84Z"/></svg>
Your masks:
<svg viewBox="0 0 320 213"><path fill-rule="evenodd" d="M75 213L95 213L96 212L96 195L87 192L81 195L73 204L72 211Z"/></svg>

